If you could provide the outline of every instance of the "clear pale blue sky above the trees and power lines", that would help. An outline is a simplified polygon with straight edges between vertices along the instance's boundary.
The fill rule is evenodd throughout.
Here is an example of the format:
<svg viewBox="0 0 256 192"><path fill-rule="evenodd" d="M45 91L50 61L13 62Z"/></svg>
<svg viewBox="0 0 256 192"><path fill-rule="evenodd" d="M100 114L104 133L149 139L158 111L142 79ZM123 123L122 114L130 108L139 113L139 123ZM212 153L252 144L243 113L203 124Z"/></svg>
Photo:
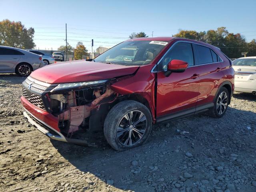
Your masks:
<svg viewBox="0 0 256 192"><path fill-rule="evenodd" d="M132 32L171 36L178 29L203 31L226 26L247 41L256 38L255 0L1 0L0 20L34 27L36 48L57 49L82 41L90 51L114 46Z"/></svg>

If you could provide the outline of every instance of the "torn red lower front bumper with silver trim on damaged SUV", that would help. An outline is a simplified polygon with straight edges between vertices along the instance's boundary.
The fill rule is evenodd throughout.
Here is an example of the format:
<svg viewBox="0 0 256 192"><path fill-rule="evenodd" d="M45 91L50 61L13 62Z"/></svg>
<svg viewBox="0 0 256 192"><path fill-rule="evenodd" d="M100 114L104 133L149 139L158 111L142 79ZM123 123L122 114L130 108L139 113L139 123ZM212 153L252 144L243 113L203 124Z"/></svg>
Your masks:
<svg viewBox="0 0 256 192"><path fill-rule="evenodd" d="M58 128L58 118L52 114L34 106L24 96L20 98L25 109L23 115L28 121L36 127L40 132L53 140L70 142L78 145L88 146L85 140L71 139L65 137Z"/></svg>

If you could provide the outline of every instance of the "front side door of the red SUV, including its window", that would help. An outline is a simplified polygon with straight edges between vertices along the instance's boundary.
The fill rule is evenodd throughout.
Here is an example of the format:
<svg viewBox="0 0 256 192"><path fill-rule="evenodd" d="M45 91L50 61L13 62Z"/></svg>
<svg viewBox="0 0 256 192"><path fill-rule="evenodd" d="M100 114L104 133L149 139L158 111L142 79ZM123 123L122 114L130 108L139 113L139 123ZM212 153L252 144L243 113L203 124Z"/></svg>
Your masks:
<svg viewBox="0 0 256 192"><path fill-rule="evenodd" d="M168 63L174 59L187 62L188 68L184 72L172 72L170 76L165 76ZM160 60L157 66L157 121L195 112L200 85L198 67L194 66L192 44L187 42L174 44Z"/></svg>

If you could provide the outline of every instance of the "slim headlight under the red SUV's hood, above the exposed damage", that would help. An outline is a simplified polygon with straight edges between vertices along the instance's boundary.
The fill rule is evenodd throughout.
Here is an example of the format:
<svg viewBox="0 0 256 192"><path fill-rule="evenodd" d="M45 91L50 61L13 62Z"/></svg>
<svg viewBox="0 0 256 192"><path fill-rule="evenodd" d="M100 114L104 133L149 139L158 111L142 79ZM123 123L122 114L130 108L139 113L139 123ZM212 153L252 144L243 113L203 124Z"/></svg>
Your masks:
<svg viewBox="0 0 256 192"><path fill-rule="evenodd" d="M50 92L56 92L59 90L77 90L90 86L100 86L107 82L108 80L98 80L98 81L88 81L88 82L77 82L77 83L63 83L58 84L54 89Z"/></svg>

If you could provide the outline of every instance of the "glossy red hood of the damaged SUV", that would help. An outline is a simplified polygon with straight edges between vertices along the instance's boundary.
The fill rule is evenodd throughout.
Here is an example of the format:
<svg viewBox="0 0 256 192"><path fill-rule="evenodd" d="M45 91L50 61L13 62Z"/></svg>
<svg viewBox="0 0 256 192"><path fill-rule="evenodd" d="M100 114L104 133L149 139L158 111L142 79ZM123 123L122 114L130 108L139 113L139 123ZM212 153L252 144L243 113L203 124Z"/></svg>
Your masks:
<svg viewBox="0 0 256 192"><path fill-rule="evenodd" d="M133 74L139 66L123 66L85 60L61 62L44 66L30 75L50 84L110 79Z"/></svg>

